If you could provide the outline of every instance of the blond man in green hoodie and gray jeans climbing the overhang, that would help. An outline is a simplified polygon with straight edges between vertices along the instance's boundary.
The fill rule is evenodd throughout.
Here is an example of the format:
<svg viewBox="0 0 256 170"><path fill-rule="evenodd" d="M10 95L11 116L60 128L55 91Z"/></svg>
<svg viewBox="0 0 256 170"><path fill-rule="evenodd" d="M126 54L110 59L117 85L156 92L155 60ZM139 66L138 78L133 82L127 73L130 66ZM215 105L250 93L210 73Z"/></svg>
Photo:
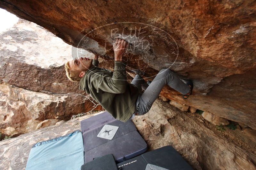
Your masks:
<svg viewBox="0 0 256 170"><path fill-rule="evenodd" d="M192 81L185 84L168 68L162 69L150 83L146 83L140 74L128 83L123 61L128 45L124 39L116 39L114 72L98 67L97 55L93 60L80 57L65 64L68 79L79 81L79 89L85 90L114 118L123 122L135 115L146 114L165 84L182 93L184 99L191 95Z"/></svg>

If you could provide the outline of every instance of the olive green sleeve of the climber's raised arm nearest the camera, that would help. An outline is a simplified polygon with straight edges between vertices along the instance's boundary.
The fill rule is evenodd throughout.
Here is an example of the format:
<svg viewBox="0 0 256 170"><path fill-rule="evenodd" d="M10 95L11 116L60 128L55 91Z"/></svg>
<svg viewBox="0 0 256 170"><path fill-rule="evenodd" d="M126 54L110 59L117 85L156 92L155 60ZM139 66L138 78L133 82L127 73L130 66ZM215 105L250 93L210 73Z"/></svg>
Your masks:
<svg viewBox="0 0 256 170"><path fill-rule="evenodd" d="M127 86L127 78L125 71L126 64L120 61L115 61L113 76L101 74L98 81L97 91L106 91L109 93L124 93Z"/></svg>

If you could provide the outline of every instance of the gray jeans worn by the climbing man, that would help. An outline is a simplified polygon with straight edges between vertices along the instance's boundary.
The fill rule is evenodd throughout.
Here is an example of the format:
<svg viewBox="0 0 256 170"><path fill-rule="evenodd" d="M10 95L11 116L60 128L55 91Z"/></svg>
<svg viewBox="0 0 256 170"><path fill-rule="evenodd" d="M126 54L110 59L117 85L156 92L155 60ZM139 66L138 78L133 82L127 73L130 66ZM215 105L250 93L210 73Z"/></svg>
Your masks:
<svg viewBox="0 0 256 170"><path fill-rule="evenodd" d="M142 88L145 92L139 94L136 102L137 110L133 113L130 119L133 119L135 115L140 116L146 114L159 96L165 84L183 95L190 92L189 86L181 81L169 68L162 69L149 86L139 74L135 75L131 83L136 85L140 91Z"/></svg>

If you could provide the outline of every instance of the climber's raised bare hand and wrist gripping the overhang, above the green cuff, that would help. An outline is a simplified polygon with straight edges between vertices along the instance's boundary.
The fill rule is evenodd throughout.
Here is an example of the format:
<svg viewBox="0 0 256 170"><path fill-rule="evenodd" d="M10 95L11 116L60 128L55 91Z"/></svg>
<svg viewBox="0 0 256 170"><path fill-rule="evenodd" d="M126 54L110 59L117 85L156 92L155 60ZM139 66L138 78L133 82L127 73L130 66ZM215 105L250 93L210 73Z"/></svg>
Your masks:
<svg viewBox="0 0 256 170"><path fill-rule="evenodd" d="M115 61L122 61L128 45L129 44L124 39L116 39L116 42L114 43Z"/></svg>

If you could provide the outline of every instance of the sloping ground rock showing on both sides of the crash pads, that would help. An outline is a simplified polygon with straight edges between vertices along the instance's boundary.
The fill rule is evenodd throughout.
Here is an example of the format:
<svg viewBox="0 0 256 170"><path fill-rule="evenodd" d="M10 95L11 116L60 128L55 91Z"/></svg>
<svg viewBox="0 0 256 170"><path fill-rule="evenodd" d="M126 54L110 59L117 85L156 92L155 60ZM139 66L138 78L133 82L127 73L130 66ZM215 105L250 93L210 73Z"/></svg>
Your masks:
<svg viewBox="0 0 256 170"><path fill-rule="evenodd" d="M149 150L172 145L195 169L256 168L255 138L247 138L241 130L227 130L225 134L216 131L199 121L201 116L192 117L194 115L198 114L181 112L157 99L147 114L135 117L133 122ZM54 126L1 141L0 169L23 170L33 144L80 129L80 121L91 116L79 117L73 122L61 121ZM237 136L246 140L238 143Z"/></svg>

